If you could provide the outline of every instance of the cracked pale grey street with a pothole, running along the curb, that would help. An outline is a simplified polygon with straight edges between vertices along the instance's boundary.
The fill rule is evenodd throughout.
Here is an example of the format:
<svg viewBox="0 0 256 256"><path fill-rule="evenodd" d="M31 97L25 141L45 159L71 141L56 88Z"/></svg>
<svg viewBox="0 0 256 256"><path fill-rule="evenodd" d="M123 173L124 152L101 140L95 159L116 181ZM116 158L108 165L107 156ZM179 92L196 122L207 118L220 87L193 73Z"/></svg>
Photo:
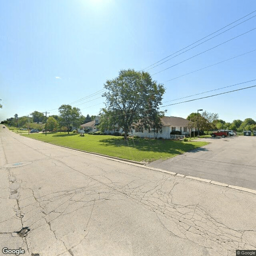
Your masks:
<svg viewBox="0 0 256 256"><path fill-rule="evenodd" d="M26 256L234 256L256 249L255 208L255 194L0 126L1 248Z"/></svg>

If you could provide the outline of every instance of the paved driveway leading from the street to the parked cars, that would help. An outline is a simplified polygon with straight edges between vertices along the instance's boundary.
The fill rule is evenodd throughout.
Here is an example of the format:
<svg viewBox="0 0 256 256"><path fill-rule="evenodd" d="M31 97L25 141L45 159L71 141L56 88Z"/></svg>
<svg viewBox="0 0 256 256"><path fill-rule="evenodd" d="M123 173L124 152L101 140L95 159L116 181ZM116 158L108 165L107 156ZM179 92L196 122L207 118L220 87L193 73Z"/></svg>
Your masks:
<svg viewBox="0 0 256 256"><path fill-rule="evenodd" d="M256 190L255 136L200 140L210 144L148 166Z"/></svg>

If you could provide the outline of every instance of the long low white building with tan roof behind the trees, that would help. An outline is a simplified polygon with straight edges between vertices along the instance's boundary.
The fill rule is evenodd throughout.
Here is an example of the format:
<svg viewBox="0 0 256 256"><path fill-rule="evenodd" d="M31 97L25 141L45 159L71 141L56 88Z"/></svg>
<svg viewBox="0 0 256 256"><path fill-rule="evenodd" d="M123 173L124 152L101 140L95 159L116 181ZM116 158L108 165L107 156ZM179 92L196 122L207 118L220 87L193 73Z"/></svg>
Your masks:
<svg viewBox="0 0 256 256"><path fill-rule="evenodd" d="M180 131L182 135L189 135L190 134L190 128L188 127L189 120L181 117L176 116L163 116L161 118L162 120L162 133L159 133L159 136L163 138L170 138L171 132ZM100 124L100 116L96 116L96 118L88 122L86 124L81 125L81 130L88 129L90 132L97 132L98 124ZM145 128L143 126L139 126L134 124L132 126L132 132L129 132L130 135L137 135L140 137L154 137L154 130L152 128ZM195 131L196 128L192 128L192 131ZM80 130L78 130L80 131ZM108 131L108 132L123 132L122 128L118 129L115 128L114 130Z"/></svg>

